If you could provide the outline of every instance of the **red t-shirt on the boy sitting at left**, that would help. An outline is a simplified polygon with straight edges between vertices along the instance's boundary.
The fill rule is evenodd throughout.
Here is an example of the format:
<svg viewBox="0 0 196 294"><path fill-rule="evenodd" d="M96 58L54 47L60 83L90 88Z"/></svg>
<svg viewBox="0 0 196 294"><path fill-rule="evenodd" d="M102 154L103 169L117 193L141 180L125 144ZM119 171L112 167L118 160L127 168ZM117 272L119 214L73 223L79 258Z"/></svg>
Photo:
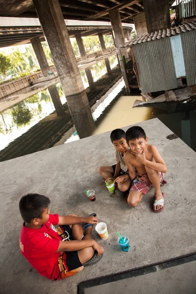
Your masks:
<svg viewBox="0 0 196 294"><path fill-rule="evenodd" d="M23 224L20 235L20 249L23 256L41 275L54 280L61 278L58 267L60 252L56 250L62 239L54 227L58 221L57 214L50 214L49 221L40 229L27 228Z"/></svg>

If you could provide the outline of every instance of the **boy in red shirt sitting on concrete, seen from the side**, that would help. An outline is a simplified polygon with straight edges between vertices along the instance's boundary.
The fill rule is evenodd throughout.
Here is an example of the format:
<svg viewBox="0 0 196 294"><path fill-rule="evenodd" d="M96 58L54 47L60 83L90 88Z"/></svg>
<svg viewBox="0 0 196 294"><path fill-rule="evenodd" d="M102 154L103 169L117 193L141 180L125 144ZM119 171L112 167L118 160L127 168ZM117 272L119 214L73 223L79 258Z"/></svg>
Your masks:
<svg viewBox="0 0 196 294"><path fill-rule="evenodd" d="M41 275L58 280L98 262L104 249L92 240L93 224L98 223L96 214L87 218L50 215L49 204L49 198L39 194L21 198L19 209L24 223L20 249Z"/></svg>

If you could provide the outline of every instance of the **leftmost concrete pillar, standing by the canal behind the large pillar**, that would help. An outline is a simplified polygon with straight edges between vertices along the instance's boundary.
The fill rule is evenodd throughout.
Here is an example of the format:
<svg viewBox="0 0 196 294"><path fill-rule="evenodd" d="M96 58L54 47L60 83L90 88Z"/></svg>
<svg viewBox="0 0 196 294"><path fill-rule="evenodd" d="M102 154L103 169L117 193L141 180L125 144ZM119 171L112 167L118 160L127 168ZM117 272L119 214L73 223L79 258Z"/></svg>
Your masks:
<svg viewBox="0 0 196 294"><path fill-rule="evenodd" d="M39 66L40 69L42 71L43 76L49 74L49 64L48 61L46 59L46 55L44 53L44 49L42 47L42 44L40 42L40 38L39 37L35 37L33 39L30 40L33 50L35 52L35 55L37 57L37 60L39 62Z"/></svg>

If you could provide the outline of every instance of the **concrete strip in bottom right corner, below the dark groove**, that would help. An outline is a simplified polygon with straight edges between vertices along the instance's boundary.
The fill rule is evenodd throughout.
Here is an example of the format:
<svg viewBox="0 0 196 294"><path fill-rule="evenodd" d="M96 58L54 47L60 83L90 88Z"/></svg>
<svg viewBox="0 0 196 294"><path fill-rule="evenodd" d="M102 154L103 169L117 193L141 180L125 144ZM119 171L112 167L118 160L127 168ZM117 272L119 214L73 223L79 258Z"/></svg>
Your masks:
<svg viewBox="0 0 196 294"><path fill-rule="evenodd" d="M87 288L84 294L195 294L196 261L174 268Z"/></svg>

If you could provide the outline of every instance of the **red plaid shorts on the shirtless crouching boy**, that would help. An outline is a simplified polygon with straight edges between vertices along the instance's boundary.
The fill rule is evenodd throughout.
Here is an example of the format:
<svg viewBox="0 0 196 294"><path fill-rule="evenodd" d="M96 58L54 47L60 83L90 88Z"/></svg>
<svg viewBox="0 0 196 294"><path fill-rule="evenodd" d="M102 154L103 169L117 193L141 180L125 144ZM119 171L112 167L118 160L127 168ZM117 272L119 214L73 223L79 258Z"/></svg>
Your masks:
<svg viewBox="0 0 196 294"><path fill-rule="evenodd" d="M163 182L163 172L159 172L160 175L160 184ZM147 173L140 176L138 173L136 173L136 177L132 181L131 190L141 192L143 194L147 194L147 191L151 187L151 182L147 176Z"/></svg>

